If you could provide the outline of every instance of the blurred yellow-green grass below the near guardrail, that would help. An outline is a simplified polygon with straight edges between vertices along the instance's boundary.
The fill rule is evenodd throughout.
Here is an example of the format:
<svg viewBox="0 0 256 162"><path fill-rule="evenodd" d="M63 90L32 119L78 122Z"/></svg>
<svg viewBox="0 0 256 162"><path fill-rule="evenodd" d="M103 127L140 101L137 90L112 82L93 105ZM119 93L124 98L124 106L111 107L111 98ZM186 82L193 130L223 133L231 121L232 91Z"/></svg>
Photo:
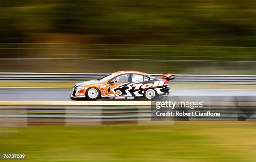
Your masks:
<svg viewBox="0 0 256 162"><path fill-rule="evenodd" d="M253 162L255 124L179 121L172 126L0 128L0 152L26 153L28 162Z"/></svg>

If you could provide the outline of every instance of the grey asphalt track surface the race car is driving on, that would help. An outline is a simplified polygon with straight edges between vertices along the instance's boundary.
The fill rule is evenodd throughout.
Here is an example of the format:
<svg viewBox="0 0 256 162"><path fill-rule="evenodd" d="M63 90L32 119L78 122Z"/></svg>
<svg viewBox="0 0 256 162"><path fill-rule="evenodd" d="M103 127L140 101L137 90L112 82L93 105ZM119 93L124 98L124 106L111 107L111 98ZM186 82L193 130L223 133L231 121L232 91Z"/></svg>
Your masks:
<svg viewBox="0 0 256 162"><path fill-rule="evenodd" d="M0 100L64 100L68 101L72 89L0 88ZM172 96L256 96L256 90L244 89L171 89ZM106 100L106 99L100 99Z"/></svg>

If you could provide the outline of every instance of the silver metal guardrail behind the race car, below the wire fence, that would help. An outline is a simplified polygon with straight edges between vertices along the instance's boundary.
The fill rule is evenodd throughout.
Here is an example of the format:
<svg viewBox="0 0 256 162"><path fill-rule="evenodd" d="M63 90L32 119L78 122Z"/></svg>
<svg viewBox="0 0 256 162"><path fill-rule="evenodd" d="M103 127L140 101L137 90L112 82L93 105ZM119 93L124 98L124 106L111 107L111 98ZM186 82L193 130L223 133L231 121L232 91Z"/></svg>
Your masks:
<svg viewBox="0 0 256 162"><path fill-rule="evenodd" d="M108 73L0 73L0 81L78 82L102 78ZM151 74L161 77L161 74ZM174 84L256 84L254 75L175 74Z"/></svg>

